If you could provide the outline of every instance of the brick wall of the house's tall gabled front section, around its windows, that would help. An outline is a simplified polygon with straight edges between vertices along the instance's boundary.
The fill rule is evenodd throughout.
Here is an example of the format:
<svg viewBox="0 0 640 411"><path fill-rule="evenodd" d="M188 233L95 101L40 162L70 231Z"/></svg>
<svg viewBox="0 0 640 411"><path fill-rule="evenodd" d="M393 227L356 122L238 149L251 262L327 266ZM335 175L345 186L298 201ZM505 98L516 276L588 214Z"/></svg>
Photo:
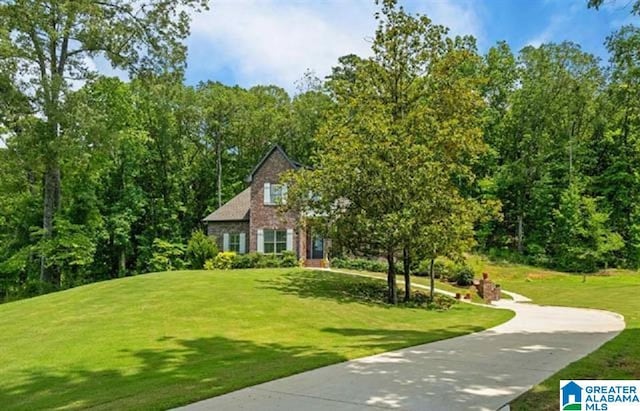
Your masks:
<svg viewBox="0 0 640 411"><path fill-rule="evenodd" d="M300 257L298 233L295 231L296 213L288 212L282 215L278 213L277 206L264 204L264 184L278 184L280 175L291 169L291 164L280 151L274 150L253 175L253 180L251 181L249 251L258 250L258 229L286 230L287 228L292 228L294 229L293 251Z"/></svg>

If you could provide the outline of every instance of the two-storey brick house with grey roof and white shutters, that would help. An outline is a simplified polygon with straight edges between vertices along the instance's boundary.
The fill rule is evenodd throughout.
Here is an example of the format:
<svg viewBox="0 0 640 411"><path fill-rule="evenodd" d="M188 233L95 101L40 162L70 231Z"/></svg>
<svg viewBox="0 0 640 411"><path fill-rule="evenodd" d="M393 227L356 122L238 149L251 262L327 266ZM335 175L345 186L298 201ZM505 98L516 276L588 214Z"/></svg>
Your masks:
<svg viewBox="0 0 640 411"><path fill-rule="evenodd" d="M278 145L267 152L247 177L249 187L203 220L207 234L216 238L220 250L239 254L279 254L288 250L306 265L322 265L329 241L301 228L297 213L278 212L278 204L287 196L286 185L279 182L280 175L301 167Z"/></svg>

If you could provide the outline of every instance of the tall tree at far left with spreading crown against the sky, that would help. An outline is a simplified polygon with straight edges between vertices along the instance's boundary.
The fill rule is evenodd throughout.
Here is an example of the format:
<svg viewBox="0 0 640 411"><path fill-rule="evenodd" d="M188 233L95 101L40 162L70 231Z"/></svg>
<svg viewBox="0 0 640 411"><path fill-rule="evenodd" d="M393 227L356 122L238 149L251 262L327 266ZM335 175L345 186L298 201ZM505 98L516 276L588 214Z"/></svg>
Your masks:
<svg viewBox="0 0 640 411"><path fill-rule="evenodd" d="M44 161L42 226L55 236L60 207L61 155L65 132L63 101L70 80L83 81L94 71L88 61L98 55L130 72L179 69L184 64L181 41L189 33L190 8L206 8L206 0L3 0L0 26L1 60L14 62L29 90L35 111L45 121L39 135ZM58 284L55 265L42 259L41 279Z"/></svg>

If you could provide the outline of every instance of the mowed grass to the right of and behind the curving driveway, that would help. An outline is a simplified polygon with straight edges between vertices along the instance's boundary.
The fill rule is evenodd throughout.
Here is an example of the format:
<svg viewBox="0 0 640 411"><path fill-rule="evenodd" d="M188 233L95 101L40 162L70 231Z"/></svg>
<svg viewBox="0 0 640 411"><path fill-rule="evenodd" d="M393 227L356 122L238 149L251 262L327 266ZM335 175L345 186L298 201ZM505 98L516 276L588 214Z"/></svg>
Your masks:
<svg viewBox="0 0 640 411"><path fill-rule="evenodd" d="M587 357L535 386L512 404L512 410L557 410L559 380L640 379L640 274L607 270L586 276L536 267L496 264L474 256L478 272L486 271L509 291L538 304L598 308L624 315L626 328Z"/></svg>

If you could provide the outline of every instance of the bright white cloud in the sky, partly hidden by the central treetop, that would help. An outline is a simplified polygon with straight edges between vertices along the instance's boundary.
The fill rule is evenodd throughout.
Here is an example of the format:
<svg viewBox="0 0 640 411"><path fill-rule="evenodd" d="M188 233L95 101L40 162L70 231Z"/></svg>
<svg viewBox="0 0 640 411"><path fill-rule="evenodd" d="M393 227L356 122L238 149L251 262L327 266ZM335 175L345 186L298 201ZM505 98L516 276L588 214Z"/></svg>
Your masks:
<svg viewBox="0 0 640 411"><path fill-rule="evenodd" d="M454 34L481 33L468 0L403 4ZM216 80L216 73L231 72L245 87L273 83L291 90L307 69L322 77L340 56L369 55L375 10L373 0L215 1L211 10L194 16L188 73Z"/></svg>

